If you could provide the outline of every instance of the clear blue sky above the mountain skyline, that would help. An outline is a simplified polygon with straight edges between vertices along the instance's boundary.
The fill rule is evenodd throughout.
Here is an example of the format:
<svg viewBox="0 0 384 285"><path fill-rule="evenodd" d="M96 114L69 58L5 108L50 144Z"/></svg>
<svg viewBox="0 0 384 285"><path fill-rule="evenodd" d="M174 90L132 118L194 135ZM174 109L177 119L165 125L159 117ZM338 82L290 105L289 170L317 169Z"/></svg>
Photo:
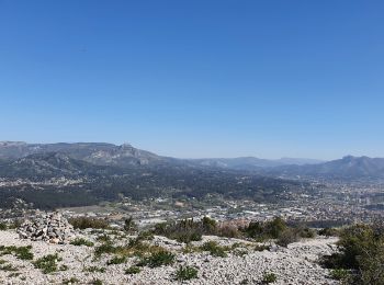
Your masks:
<svg viewBox="0 0 384 285"><path fill-rule="evenodd" d="M0 0L0 140L384 157L384 1Z"/></svg>

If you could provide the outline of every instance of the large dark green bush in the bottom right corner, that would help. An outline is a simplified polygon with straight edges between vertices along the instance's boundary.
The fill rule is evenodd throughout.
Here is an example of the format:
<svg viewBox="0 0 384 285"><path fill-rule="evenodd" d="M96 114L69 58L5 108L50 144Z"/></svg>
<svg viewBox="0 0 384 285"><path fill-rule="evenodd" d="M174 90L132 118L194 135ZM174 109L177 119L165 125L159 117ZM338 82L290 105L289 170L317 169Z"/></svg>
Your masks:
<svg viewBox="0 0 384 285"><path fill-rule="evenodd" d="M339 252L324 256L331 276L349 284L384 284L384 224L354 225L340 231ZM349 274L347 274L349 273Z"/></svg>

